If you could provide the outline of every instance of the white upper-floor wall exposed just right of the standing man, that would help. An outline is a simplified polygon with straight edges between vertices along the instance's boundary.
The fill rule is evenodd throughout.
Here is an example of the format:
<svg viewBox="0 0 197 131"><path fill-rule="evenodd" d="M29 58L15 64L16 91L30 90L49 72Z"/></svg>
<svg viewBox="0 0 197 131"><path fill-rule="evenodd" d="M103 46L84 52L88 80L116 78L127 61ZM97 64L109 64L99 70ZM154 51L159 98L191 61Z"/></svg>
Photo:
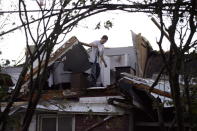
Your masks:
<svg viewBox="0 0 197 131"><path fill-rule="evenodd" d="M133 47L105 48L105 61L107 67L101 64L101 81L104 86L114 82L111 76L111 70L115 71L115 67L131 67L136 70L136 53Z"/></svg>

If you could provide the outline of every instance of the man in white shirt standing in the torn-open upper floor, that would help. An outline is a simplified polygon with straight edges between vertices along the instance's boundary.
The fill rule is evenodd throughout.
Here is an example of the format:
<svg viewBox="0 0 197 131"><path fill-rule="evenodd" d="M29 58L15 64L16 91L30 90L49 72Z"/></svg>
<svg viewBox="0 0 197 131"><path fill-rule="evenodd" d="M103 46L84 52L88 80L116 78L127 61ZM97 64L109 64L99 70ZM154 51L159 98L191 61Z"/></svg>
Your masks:
<svg viewBox="0 0 197 131"><path fill-rule="evenodd" d="M99 63L103 63L105 67L107 67L106 61L103 57L104 52L104 44L107 42L108 36L103 35L100 40L93 41L90 44L82 43L85 46L91 47L92 50L90 52L90 62L92 63L91 68L91 85L94 86L96 81L100 75L100 65Z"/></svg>

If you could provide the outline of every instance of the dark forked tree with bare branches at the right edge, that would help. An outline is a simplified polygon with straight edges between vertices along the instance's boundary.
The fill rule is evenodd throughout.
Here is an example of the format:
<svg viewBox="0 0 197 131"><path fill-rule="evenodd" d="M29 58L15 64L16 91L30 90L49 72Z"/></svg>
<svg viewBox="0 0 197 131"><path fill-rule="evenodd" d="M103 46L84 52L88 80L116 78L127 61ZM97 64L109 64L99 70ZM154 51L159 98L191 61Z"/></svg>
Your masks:
<svg viewBox="0 0 197 131"><path fill-rule="evenodd" d="M183 115L183 112L185 112L185 108L183 106L183 102L181 102L181 100L183 100L183 94L181 94L179 77L186 73L182 71L183 65L186 62L186 54L190 54L191 49L196 46L196 40L194 36L196 35L197 28L197 8L195 0L177 0L173 2L176 3L176 6L173 10L169 10L167 12L163 11L163 5L168 2L158 2L159 6L157 14L161 25L161 37L157 44L159 46L169 76L169 83L176 110L176 121L178 124L178 130L182 131L185 130ZM169 18L169 26L167 26L167 23L164 22L164 18ZM167 37L170 42L170 51L168 56L164 53L164 44L162 43L165 32L167 32ZM187 83L185 91L187 96L187 104L190 105Z"/></svg>

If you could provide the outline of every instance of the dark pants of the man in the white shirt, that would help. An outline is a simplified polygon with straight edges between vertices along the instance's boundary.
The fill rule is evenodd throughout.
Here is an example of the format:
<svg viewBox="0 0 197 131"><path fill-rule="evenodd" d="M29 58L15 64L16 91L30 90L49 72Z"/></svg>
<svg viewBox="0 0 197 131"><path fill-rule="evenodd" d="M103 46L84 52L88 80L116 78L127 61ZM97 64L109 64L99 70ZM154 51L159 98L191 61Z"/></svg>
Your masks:
<svg viewBox="0 0 197 131"><path fill-rule="evenodd" d="M91 63L91 65L90 83L91 86L95 86L101 69L99 63Z"/></svg>

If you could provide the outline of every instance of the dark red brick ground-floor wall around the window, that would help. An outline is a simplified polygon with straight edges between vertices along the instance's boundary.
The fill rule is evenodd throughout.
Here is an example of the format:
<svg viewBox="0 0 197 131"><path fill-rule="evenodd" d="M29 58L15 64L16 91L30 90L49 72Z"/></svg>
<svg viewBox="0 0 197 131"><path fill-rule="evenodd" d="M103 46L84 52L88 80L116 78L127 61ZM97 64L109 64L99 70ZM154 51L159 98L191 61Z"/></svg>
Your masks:
<svg viewBox="0 0 197 131"><path fill-rule="evenodd" d="M39 114L42 115L42 114ZM47 114L43 114L47 115ZM49 114L50 116L51 114ZM62 114L63 115L63 114ZM66 115L66 114L64 114ZM69 114L72 115L72 114ZM73 114L73 131L85 131L92 125L94 125L97 122L102 121L104 118L106 118L107 115L91 115L91 114ZM38 119L38 115L34 115L29 131L40 131L39 125L40 120ZM65 123L66 126L66 123ZM129 116L128 115L121 115L121 116L115 116L104 123L100 124L99 126L95 127L91 131L129 131Z"/></svg>

